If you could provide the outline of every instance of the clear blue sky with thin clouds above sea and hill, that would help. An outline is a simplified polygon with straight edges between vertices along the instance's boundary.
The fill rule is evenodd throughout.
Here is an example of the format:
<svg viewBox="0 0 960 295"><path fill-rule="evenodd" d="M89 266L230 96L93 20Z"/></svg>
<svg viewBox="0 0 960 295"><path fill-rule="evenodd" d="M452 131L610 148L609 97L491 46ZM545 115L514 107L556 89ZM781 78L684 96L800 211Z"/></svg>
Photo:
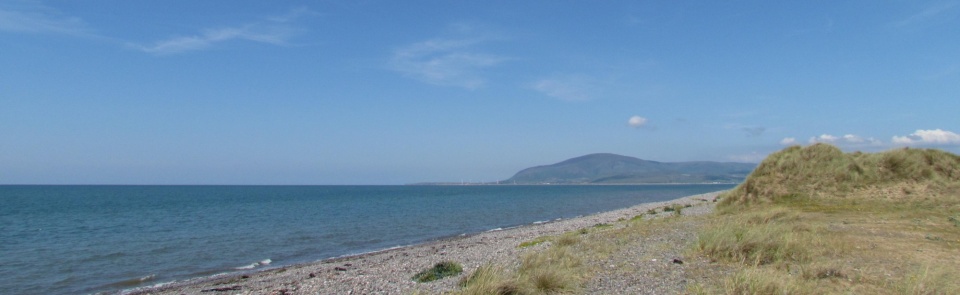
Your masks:
<svg viewBox="0 0 960 295"><path fill-rule="evenodd" d="M960 153L960 1L0 1L0 184Z"/></svg>

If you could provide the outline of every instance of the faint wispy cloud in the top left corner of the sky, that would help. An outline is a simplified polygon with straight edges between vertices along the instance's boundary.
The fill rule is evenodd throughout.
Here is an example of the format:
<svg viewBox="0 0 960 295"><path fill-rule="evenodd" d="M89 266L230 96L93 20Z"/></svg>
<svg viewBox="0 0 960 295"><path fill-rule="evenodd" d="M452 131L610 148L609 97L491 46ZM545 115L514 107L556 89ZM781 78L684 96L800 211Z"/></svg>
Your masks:
<svg viewBox="0 0 960 295"><path fill-rule="evenodd" d="M78 17L66 16L47 7L19 9L0 7L0 31L30 34L92 35L89 25Z"/></svg>

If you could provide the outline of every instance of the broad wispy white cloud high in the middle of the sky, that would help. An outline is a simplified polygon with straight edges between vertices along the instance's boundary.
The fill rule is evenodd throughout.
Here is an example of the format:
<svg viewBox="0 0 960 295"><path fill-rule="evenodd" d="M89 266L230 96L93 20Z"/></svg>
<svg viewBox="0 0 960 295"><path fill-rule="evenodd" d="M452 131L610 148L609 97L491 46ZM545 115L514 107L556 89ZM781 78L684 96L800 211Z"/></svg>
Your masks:
<svg viewBox="0 0 960 295"><path fill-rule="evenodd" d="M486 83L481 70L507 60L478 49L491 40L480 36L436 38L413 43L393 52L390 67L407 77L433 85L480 88Z"/></svg>

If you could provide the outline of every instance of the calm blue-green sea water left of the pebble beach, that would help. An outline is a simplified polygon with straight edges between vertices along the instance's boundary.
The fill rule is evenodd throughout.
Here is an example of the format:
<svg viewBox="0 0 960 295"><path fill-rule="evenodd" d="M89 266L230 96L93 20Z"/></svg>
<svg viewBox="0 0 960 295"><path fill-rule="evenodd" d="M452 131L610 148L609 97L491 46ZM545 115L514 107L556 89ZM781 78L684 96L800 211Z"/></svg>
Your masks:
<svg viewBox="0 0 960 295"><path fill-rule="evenodd" d="M731 187L0 186L0 290L116 292Z"/></svg>

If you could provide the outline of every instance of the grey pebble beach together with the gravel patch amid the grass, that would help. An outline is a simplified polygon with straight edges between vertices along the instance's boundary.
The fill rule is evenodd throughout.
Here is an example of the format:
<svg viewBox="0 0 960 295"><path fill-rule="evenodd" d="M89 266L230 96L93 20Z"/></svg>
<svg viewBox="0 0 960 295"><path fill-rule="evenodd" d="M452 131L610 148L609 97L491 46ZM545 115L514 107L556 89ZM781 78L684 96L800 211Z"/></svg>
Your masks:
<svg viewBox="0 0 960 295"><path fill-rule="evenodd" d="M559 235L568 231L592 227L597 224L617 224L634 216L647 214L650 209L667 205L690 205L683 215L706 214L713 209L713 200L720 192L687 196L675 200L645 203L629 208L592 214L577 218L554 220L515 228L495 229L479 234L465 235L387 249L372 253L327 259L317 262L265 269L250 273L237 273L160 284L149 288L123 291L122 294L440 294L458 289L462 277L484 264L511 264L525 251L537 251L539 247L520 248L518 245L541 236ZM658 218L672 215L661 212ZM662 293L659 291L682 290L687 279L683 276L682 263L671 262L679 257L682 243L695 237L685 223L676 228L658 231L650 241L637 241L637 246L623 253L639 255L645 262L632 262L635 277L604 279L597 274L585 286L587 290L620 293ZM656 247L645 245L659 244ZM626 255L626 254L624 254ZM650 258L653 257L653 258ZM638 258L639 259L639 258ZM454 261L463 265L463 273L428 283L414 282L411 277L441 261ZM639 261L639 260L638 260ZM603 262L595 262L603 263ZM657 273L644 281L645 273Z"/></svg>

